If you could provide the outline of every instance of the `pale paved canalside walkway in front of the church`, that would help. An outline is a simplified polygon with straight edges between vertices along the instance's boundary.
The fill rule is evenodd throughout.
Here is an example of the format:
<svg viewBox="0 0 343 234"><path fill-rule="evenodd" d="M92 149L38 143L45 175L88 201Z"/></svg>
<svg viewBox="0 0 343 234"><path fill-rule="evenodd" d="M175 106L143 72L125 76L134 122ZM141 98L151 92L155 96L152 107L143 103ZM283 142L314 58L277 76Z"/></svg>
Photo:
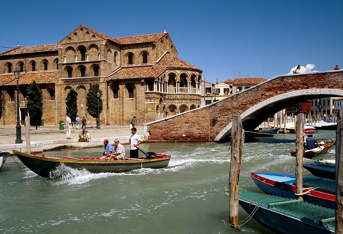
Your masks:
<svg viewBox="0 0 343 234"><path fill-rule="evenodd" d="M84 147L98 147L104 144L104 139L108 139L111 144L114 144L116 138L121 144L128 144L131 130L129 126L100 126L88 127L87 130L91 135L90 142L79 142L78 134L81 130L76 130L73 126L71 131L71 140L67 140L66 130L60 131L59 126L42 126L30 127L30 143L31 151L42 152L56 148L84 148ZM144 126L136 126L137 134L140 135L141 140L144 140ZM0 152L11 152L12 149L26 152L25 141L25 126L22 126L22 140L23 144L15 144L16 128L15 125L1 125L0 126Z"/></svg>

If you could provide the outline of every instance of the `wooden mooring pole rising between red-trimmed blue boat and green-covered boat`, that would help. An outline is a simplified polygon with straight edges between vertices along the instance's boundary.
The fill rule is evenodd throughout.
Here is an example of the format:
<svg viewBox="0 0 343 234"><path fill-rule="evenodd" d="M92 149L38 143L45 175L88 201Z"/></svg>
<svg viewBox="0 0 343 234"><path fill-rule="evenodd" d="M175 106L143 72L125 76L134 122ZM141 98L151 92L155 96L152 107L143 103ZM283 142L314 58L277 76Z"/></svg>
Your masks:
<svg viewBox="0 0 343 234"><path fill-rule="evenodd" d="M304 156L304 114L297 116L295 128L295 148L296 148L296 163L295 163L295 180L296 194L303 193L303 156ZM296 196L297 200L303 199L303 196Z"/></svg>

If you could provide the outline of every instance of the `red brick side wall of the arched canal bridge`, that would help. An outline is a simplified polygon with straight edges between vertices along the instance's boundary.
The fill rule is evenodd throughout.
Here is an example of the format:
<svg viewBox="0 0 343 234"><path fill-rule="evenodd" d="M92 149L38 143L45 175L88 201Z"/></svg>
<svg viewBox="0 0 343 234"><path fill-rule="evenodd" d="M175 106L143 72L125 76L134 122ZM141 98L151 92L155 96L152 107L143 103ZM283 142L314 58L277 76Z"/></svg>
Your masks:
<svg viewBox="0 0 343 234"><path fill-rule="evenodd" d="M280 94L304 89L343 90L343 70L282 75L200 109L147 125L150 141L213 141L232 122L254 105ZM216 123L213 123L216 118Z"/></svg>

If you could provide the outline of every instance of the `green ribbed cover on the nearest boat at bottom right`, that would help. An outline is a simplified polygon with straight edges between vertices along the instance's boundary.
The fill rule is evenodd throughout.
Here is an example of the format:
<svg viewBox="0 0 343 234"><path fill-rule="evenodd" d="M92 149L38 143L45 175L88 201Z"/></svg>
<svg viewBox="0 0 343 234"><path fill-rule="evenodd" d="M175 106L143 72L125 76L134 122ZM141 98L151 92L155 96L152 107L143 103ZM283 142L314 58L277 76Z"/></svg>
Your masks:
<svg viewBox="0 0 343 234"><path fill-rule="evenodd" d="M225 193L228 194L228 190L225 191ZM306 219L318 224L321 224L320 220L326 220L330 219L329 221L323 221L322 223L327 226L330 226L330 230L335 229L335 220L332 218L335 217L335 210L330 208L321 207L319 205L314 205L311 203L308 203L306 201L301 202L292 202L292 201L299 201L291 198L281 198L276 196L268 196L267 194L262 193L256 193L256 192L250 192L250 191L244 191L239 190L239 198L244 199L247 201L251 201L253 204L262 204L267 207L270 207L270 209L275 210L279 213L283 213L285 215L297 217L300 219ZM253 200L256 199L256 200ZM252 201L253 200L253 201ZM287 203L287 201L291 201ZM281 203L286 202L286 203ZM272 204L274 203L274 204ZM275 204L276 203L276 204ZM281 203L281 204L277 204Z"/></svg>

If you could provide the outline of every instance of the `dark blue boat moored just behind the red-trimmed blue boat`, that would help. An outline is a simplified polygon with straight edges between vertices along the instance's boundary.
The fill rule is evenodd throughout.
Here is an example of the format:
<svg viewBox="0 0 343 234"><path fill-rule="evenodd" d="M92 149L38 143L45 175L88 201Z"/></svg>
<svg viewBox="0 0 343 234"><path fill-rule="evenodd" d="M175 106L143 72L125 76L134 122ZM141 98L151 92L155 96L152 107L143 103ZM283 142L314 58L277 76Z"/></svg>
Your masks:
<svg viewBox="0 0 343 234"><path fill-rule="evenodd" d="M312 175L335 179L335 159L320 159L313 163L304 163L306 168Z"/></svg>

